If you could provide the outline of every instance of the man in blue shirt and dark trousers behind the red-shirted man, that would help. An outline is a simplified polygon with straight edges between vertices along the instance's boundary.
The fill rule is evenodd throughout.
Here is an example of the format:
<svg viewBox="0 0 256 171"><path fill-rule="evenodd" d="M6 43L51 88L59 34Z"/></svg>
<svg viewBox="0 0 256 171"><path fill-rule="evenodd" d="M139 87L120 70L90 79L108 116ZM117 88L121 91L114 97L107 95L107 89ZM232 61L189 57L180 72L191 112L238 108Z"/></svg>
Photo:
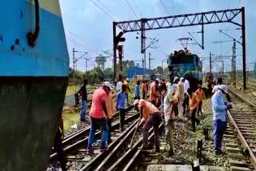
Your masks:
<svg viewBox="0 0 256 171"><path fill-rule="evenodd" d="M126 115L126 85L122 85L122 90L117 95L116 100L116 109L119 110L119 120L120 120L120 127L119 131L123 131L124 122L125 122L125 115Z"/></svg>

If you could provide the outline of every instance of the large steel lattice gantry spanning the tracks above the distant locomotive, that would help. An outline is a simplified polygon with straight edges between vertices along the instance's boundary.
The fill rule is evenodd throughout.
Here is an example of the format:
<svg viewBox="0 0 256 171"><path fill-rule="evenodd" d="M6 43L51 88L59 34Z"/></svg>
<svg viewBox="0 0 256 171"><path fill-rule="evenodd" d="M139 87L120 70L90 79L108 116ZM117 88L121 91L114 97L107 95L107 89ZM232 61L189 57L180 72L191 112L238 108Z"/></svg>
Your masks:
<svg viewBox="0 0 256 171"><path fill-rule="evenodd" d="M235 18L241 14L241 23ZM245 8L230 10L214 10L195 14L170 15L160 18L141 18L124 22L113 22L113 36L116 38L116 29L123 33L141 31L142 53L145 49L145 31L170 29L183 26L202 26L202 49L204 49L204 25L230 22L242 28L242 66L243 66L243 89L246 89L246 28L245 28ZM114 42L114 78L116 78L116 47Z"/></svg>

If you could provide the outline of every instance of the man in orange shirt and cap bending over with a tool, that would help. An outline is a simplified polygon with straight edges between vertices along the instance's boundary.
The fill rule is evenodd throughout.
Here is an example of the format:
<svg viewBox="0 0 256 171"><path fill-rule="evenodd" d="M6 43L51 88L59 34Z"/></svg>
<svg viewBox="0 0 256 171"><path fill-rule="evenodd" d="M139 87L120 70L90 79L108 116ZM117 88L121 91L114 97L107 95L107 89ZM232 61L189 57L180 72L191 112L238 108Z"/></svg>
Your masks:
<svg viewBox="0 0 256 171"><path fill-rule="evenodd" d="M161 122L161 113L157 107L155 107L152 103L141 100L134 101L134 109L141 113L141 120L139 125L143 125L143 148L142 149L149 149L148 148L148 137L149 137L149 130L152 126L154 126L154 142L155 142L155 149L156 152L160 152L160 140L159 140L159 130L158 127Z"/></svg>

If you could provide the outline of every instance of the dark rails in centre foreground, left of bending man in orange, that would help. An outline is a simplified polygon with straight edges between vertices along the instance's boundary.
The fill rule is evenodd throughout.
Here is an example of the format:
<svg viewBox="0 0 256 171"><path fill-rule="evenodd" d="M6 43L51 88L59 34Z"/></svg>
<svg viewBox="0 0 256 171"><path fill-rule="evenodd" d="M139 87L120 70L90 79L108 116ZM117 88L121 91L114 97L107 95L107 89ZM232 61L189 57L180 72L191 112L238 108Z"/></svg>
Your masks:
<svg viewBox="0 0 256 171"><path fill-rule="evenodd" d="M80 171L85 170L131 170L134 169L134 166L141 161L139 157L142 154L142 131L139 130L136 132L134 137L134 145L129 147L131 138L134 135L135 127L138 123L138 120L130 125L130 128L126 130L118 138L118 141L114 141L110 145L110 149L105 153L101 153L98 157L95 157L92 161L84 165ZM162 128L162 124L159 125L159 129ZM154 140L154 130L153 128L149 131L149 141Z"/></svg>

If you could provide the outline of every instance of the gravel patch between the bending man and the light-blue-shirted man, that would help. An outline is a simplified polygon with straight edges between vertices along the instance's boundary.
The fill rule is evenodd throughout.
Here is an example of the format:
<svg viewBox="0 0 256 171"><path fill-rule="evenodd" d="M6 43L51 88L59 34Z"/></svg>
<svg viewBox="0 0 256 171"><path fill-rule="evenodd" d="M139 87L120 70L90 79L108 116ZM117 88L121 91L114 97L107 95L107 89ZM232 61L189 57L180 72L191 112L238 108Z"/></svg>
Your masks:
<svg viewBox="0 0 256 171"><path fill-rule="evenodd" d="M197 126L196 132L192 132L191 121L176 121L174 129L174 157L165 157L166 163L173 161L180 161L190 165L197 158L197 140L202 139L202 162L201 165L218 165L227 166L227 156L215 156L213 143L213 129L212 129L212 112L210 99L203 103L204 113L202 116L197 116L200 120L200 125ZM209 129L210 140L206 141L203 128Z"/></svg>

